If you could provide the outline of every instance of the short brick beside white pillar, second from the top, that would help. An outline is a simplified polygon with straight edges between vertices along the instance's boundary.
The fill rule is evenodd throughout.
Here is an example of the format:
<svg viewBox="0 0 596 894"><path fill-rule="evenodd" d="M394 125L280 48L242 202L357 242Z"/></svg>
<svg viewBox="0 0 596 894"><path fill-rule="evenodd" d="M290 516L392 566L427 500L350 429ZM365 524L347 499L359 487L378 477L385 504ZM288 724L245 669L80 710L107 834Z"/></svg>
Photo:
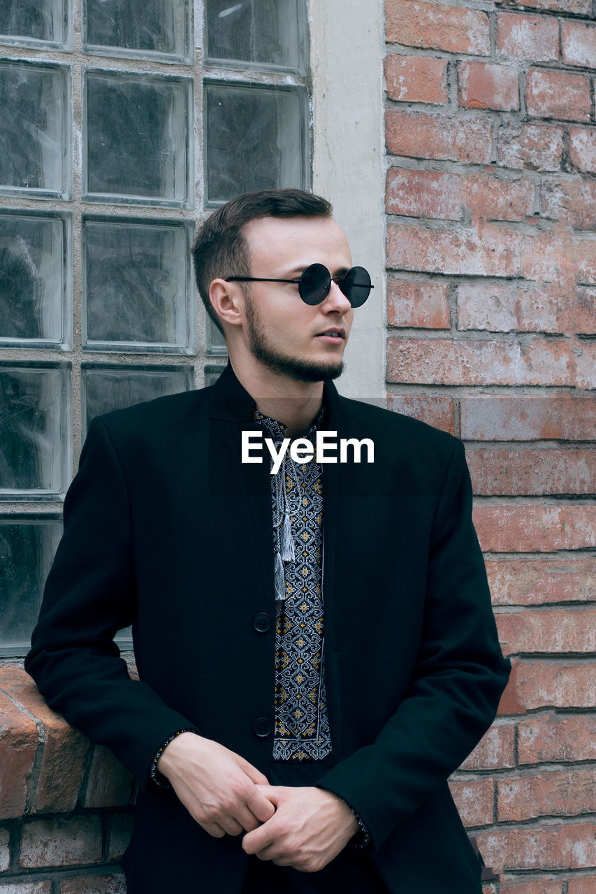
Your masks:
<svg viewBox="0 0 596 894"><path fill-rule="evenodd" d="M391 54L385 59L387 96L399 103L445 105L447 59Z"/></svg>

